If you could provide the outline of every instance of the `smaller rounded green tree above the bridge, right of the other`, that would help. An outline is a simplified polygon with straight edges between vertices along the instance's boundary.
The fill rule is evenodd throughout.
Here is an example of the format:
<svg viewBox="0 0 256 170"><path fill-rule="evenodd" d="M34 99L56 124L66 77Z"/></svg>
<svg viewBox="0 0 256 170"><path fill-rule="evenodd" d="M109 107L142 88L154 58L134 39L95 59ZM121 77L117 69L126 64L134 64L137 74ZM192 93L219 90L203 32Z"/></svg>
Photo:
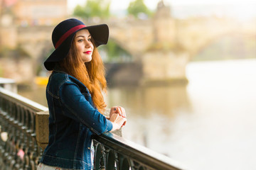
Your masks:
<svg viewBox="0 0 256 170"><path fill-rule="evenodd" d="M127 12L136 18L146 18L152 16L152 12L146 7L144 0L134 0L130 2Z"/></svg>

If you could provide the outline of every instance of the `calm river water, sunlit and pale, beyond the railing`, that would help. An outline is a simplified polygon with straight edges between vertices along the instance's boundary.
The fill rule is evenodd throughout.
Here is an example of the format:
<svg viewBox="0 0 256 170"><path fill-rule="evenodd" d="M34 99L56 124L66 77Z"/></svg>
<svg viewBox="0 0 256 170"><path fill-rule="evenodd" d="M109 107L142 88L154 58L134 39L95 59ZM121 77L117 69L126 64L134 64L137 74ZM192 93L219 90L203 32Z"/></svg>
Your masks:
<svg viewBox="0 0 256 170"><path fill-rule="evenodd" d="M188 85L111 88L124 138L188 169L256 169L256 60L190 62ZM18 91L46 106L45 87ZM33 92L33 91L32 91Z"/></svg>

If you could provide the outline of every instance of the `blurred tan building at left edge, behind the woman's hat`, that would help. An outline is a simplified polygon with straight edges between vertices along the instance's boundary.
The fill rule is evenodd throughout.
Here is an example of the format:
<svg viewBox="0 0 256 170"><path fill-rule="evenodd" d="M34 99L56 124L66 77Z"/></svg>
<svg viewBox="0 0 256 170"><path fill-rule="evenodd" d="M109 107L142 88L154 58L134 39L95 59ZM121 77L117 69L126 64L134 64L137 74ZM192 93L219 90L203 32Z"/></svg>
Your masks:
<svg viewBox="0 0 256 170"><path fill-rule="evenodd" d="M0 0L0 77L31 84L67 17L68 0Z"/></svg>

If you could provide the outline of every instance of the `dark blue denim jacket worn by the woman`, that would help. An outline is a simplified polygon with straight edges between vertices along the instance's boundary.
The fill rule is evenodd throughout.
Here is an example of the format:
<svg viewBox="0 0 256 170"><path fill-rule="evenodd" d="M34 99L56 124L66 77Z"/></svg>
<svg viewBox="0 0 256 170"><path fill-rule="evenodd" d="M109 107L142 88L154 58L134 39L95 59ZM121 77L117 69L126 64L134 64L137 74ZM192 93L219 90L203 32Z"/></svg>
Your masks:
<svg viewBox="0 0 256 170"><path fill-rule="evenodd" d="M97 111L87 87L64 72L50 75L46 98L49 141L41 162L64 169L92 169L92 134L112 130L112 123Z"/></svg>

